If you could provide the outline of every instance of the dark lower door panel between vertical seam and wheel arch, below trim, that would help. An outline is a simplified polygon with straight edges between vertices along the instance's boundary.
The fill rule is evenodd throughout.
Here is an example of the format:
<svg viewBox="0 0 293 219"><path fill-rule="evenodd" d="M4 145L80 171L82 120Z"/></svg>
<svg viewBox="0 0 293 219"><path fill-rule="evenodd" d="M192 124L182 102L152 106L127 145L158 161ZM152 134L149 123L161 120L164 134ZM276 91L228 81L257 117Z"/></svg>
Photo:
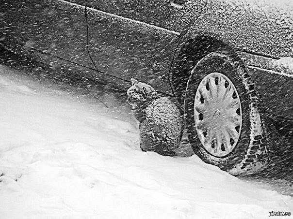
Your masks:
<svg viewBox="0 0 293 219"><path fill-rule="evenodd" d="M130 80L138 78L168 91L171 56L179 36L111 16L88 15L91 55L99 70ZM114 22L113 22L114 21Z"/></svg>

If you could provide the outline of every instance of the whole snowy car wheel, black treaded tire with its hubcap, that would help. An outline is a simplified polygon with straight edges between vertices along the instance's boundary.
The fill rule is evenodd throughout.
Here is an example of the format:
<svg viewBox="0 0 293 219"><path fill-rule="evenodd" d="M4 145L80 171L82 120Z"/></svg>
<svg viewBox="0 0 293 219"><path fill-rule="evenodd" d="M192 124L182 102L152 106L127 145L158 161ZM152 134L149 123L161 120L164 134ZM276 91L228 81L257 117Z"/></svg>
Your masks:
<svg viewBox="0 0 293 219"><path fill-rule="evenodd" d="M232 175L263 169L269 161L259 96L242 60L212 52L195 65L187 82L184 118L197 156Z"/></svg>

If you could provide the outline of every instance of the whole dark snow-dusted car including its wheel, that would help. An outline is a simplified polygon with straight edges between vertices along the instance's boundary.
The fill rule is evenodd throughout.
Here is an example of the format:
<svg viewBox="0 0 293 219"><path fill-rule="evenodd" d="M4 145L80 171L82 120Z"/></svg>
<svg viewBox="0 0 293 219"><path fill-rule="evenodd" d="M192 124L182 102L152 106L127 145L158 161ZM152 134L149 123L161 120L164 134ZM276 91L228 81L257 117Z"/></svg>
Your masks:
<svg viewBox="0 0 293 219"><path fill-rule="evenodd" d="M0 20L6 50L175 98L195 154L232 175L269 163L267 126L292 134L291 0L4 0Z"/></svg>

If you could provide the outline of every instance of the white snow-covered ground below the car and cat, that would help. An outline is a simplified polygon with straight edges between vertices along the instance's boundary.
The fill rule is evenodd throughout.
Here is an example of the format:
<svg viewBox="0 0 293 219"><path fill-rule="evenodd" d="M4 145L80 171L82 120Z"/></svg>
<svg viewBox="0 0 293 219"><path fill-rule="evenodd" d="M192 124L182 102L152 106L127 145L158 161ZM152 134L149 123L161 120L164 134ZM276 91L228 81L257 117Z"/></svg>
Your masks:
<svg viewBox="0 0 293 219"><path fill-rule="evenodd" d="M110 112L3 66L0 101L1 219L293 213L293 197L254 187L195 155L144 153L137 124L119 116L119 109Z"/></svg>

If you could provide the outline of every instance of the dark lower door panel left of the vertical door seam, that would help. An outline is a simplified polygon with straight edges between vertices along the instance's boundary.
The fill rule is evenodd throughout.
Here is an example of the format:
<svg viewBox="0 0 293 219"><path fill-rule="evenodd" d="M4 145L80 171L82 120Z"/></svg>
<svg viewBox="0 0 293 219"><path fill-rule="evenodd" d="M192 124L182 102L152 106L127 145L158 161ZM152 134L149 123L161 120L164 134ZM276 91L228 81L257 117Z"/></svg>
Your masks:
<svg viewBox="0 0 293 219"><path fill-rule="evenodd" d="M90 65L82 9L61 1L9 0L1 3L0 12L0 34L5 43L31 51L55 69L62 61Z"/></svg>

